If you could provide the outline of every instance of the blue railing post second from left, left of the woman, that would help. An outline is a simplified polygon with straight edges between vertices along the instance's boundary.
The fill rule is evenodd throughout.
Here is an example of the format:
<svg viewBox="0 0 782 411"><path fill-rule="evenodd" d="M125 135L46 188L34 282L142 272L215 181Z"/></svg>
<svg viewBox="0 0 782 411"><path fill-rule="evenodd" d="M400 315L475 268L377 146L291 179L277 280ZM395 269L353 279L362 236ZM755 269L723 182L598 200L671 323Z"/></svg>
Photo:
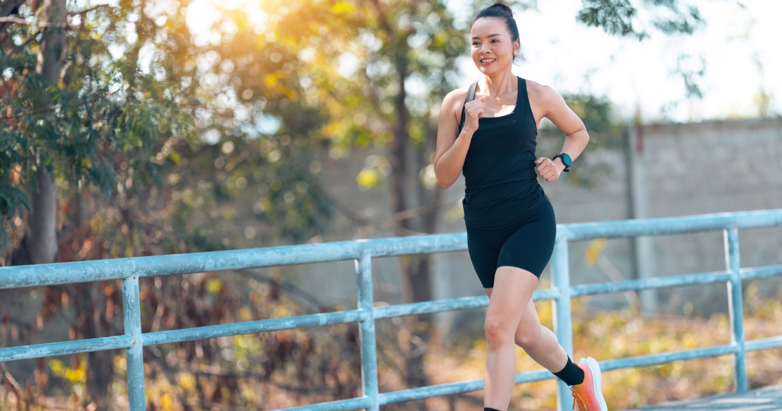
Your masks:
<svg viewBox="0 0 782 411"><path fill-rule="evenodd" d="M375 345L375 316L372 313L374 297L372 295L372 257L364 254L356 260L358 273L358 309L367 313L361 320L359 336L361 338L361 391L372 402L368 411L378 411L378 356Z"/></svg>

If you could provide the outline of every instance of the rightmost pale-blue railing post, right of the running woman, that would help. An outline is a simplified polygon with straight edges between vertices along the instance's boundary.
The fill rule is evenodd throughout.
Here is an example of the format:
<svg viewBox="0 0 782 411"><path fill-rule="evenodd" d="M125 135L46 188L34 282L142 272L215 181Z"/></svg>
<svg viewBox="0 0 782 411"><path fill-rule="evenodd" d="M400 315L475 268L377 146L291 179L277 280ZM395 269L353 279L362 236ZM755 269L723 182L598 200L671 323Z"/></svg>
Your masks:
<svg viewBox="0 0 782 411"><path fill-rule="evenodd" d="M736 392L747 391L747 362L744 349L744 302L741 295L741 258L738 249L738 228L725 231L725 264L730 273L728 282L728 312L730 313L730 341L736 345L734 366Z"/></svg>

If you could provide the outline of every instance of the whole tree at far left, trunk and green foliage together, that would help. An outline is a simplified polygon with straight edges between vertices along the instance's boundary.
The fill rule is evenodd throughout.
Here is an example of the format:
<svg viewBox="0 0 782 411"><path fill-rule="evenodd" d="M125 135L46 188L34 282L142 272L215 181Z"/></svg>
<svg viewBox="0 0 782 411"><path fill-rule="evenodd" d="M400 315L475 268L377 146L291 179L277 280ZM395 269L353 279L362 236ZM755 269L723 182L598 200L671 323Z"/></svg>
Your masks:
<svg viewBox="0 0 782 411"><path fill-rule="evenodd" d="M160 63L145 72L138 64L142 46L157 41L163 29L141 13L134 19L136 41L127 41L125 24L137 12L132 5L68 10L65 0L6 0L0 9L5 29L0 33L2 249L7 255L9 245L16 245L7 259L12 265L52 263L58 254L67 260L75 256L61 248L92 247L81 214L84 194L96 188L110 197L118 174L133 174L137 184L159 179L164 167L150 154L161 138L192 140L192 121L181 106L193 98L174 80L176 73L166 70L170 66ZM127 54L115 55L117 47ZM175 49L177 42L169 39L158 47ZM70 201L63 201L65 195ZM61 217L66 219L58 225ZM21 241L9 243L9 231L16 237L19 229ZM83 338L113 334L104 314L106 287L83 284L69 290L81 324L74 330ZM59 297L57 290L48 293ZM105 409L113 374L109 352L88 358L88 390L95 405Z"/></svg>

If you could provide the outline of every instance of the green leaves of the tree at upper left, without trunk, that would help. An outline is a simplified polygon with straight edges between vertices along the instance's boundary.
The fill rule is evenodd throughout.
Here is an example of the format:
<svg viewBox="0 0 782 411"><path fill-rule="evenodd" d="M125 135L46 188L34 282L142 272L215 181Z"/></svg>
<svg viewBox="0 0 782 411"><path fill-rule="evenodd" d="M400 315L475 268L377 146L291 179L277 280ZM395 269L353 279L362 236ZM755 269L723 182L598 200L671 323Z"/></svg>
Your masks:
<svg viewBox="0 0 782 411"><path fill-rule="evenodd" d="M30 5L22 10L29 13ZM160 185L164 168L150 160L160 138L195 138L192 119L181 108L188 94L177 86L174 73L154 64L144 73L138 50L115 56L110 48L117 44L104 41L124 38L123 26L132 13L133 6L122 3L84 14L81 24L66 31L55 84L36 73L37 34L30 31L35 20L5 34L16 48L2 56L0 79L2 227L20 210L15 205L24 204L20 193L36 187L38 168L79 189L95 187L108 198L117 187L119 153L135 169L138 183ZM161 31L156 26L139 30L136 45ZM7 236L5 229L2 234Z"/></svg>

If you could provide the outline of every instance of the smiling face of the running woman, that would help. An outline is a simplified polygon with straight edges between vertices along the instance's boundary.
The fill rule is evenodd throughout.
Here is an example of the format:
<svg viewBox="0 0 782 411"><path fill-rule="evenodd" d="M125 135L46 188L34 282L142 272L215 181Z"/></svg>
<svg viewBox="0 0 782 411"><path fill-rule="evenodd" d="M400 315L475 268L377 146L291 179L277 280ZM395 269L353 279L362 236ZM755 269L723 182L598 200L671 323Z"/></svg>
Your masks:
<svg viewBox="0 0 782 411"><path fill-rule="evenodd" d="M483 17L470 29L472 62L482 73L490 75L511 70L513 57L518 54L518 40L511 41L505 20Z"/></svg>

